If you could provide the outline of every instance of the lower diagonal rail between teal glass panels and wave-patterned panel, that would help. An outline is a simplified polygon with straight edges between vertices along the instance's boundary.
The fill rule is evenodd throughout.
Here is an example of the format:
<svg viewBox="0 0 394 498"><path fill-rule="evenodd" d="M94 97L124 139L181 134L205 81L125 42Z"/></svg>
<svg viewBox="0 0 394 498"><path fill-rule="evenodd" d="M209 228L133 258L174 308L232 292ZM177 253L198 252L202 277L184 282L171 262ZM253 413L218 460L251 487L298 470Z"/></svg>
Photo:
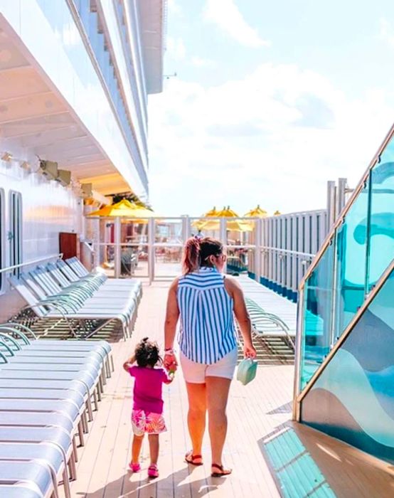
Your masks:
<svg viewBox="0 0 394 498"><path fill-rule="evenodd" d="M324 359L323 363L319 366L319 368L314 372L313 376L309 379L307 385L304 387L304 389L301 391L301 393L298 394L297 398L294 398L294 403L301 403L303 398L307 395L307 393L310 391L316 380L321 376L321 373L326 369L326 366L329 364L331 361L331 358L336 354L336 351L344 344L344 341L346 341L348 335L351 333L351 331L356 327L358 320L363 316L363 313L365 310L368 308L369 304L374 300L380 289L385 285L385 282L388 280L388 277L390 277L391 273L394 271L394 259L391 261L390 265L386 268L385 272L383 275L380 277L378 280L377 284L375 287L373 287L373 290L368 294L366 297L366 300L364 300L363 304L361 307L358 308L358 311L356 314L353 316L353 319L351 319L351 322L348 324L344 332L341 334L341 337L336 341L334 346L331 348L331 351L329 351L329 354L327 354L326 358ZM294 408L295 410L295 408ZM297 413L299 415L299 412L297 410Z"/></svg>

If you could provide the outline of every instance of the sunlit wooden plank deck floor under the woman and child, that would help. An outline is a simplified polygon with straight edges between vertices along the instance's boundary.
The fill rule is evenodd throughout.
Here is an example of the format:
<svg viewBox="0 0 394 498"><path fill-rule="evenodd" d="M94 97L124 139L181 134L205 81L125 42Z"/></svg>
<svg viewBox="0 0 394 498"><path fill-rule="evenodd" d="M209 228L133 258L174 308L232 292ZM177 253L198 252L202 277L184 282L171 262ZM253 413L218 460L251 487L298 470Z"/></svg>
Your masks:
<svg viewBox="0 0 394 498"><path fill-rule="evenodd" d="M394 496L393 475L361 452L302 425L292 424L292 366L260 366L255 381L234 381L228 406L229 433L225 464L233 475L211 479L209 447L206 465L188 467L186 391L181 373L165 388L168 432L161 437L160 477L147 480L148 448L142 472L127 470L131 444L129 415L132 379L122 371L135 341L144 336L162 341L168 282L144 287L134 337L113 344L115 373L107 383L100 409L90 424L87 444L79 450L78 480L73 498L176 497L339 497Z"/></svg>

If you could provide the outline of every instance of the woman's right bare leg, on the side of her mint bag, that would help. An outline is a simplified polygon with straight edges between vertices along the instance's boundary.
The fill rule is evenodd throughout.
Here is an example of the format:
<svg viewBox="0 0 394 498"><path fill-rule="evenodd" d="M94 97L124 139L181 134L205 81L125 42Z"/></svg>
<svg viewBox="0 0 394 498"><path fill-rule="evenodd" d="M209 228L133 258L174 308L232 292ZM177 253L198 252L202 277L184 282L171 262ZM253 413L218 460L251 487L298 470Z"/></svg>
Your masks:
<svg viewBox="0 0 394 498"><path fill-rule="evenodd" d="M230 378L206 377L208 430L211 438L212 463L222 465L222 452L227 433L225 408L230 391Z"/></svg>

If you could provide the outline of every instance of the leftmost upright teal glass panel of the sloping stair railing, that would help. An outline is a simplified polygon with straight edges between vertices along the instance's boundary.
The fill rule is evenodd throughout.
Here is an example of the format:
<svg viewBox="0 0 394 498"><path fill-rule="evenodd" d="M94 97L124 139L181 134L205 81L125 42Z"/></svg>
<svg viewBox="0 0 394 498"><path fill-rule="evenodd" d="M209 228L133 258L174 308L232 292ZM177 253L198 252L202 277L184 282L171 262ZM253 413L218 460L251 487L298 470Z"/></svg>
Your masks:
<svg viewBox="0 0 394 498"><path fill-rule="evenodd" d="M334 237L304 285L300 385L308 383L331 349Z"/></svg>

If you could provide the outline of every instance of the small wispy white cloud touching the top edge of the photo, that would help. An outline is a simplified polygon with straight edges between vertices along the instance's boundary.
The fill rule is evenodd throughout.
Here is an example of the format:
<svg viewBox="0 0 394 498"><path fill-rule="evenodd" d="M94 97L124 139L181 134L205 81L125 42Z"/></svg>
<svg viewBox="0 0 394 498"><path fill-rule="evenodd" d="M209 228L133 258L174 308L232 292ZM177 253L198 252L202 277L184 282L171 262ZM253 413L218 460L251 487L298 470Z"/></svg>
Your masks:
<svg viewBox="0 0 394 498"><path fill-rule="evenodd" d="M234 0L206 0L203 16L206 21L215 23L241 45L252 48L270 46L270 41L263 40L259 33L247 24Z"/></svg>

